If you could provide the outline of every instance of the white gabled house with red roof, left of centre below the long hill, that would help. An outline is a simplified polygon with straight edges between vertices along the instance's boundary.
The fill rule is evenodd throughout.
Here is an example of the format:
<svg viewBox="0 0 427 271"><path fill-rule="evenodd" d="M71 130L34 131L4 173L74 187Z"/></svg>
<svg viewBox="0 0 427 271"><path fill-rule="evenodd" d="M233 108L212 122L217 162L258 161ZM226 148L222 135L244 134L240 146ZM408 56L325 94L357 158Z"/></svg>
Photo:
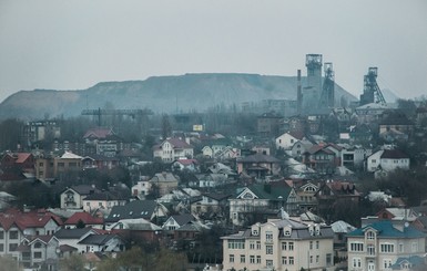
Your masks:
<svg viewBox="0 0 427 271"><path fill-rule="evenodd" d="M153 157L171 163L182 157L193 158L193 146L179 138L167 138L153 147Z"/></svg>

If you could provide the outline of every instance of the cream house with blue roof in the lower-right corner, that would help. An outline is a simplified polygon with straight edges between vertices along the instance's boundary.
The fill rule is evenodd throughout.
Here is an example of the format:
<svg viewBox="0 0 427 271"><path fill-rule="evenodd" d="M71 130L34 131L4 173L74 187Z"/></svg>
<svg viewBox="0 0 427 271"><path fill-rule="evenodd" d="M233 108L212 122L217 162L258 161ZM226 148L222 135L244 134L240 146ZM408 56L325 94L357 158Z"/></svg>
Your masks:
<svg viewBox="0 0 427 271"><path fill-rule="evenodd" d="M399 258L423 257L426 234L405 221L383 220L347 234L348 270L392 270Z"/></svg>

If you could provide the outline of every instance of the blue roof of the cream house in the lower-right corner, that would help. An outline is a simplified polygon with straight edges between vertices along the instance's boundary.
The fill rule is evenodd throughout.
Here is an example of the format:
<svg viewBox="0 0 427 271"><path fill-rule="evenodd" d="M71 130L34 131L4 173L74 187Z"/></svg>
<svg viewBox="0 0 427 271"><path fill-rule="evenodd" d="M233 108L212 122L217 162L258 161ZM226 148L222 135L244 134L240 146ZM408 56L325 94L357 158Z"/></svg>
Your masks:
<svg viewBox="0 0 427 271"><path fill-rule="evenodd" d="M348 237L358 237L358 236L364 236L365 231L367 229L374 229L378 231L378 236L382 237L392 237L392 238L424 238L426 237L425 233L421 231L415 229L411 226L404 227L404 230L396 229L393 227L392 221L389 220L384 220L375 223L370 223L365 226L364 228L356 229L352 232L349 232L347 236Z"/></svg>

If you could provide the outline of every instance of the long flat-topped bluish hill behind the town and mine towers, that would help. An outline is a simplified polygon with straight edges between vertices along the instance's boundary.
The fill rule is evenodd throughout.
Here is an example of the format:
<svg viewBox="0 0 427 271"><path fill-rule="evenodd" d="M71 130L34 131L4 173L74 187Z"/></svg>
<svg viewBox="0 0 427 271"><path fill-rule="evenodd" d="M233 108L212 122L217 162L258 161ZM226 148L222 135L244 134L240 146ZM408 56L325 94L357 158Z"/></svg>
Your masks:
<svg viewBox="0 0 427 271"><path fill-rule="evenodd" d="M305 77L303 80L303 86ZM336 100L356 98L336 85ZM185 74L144 81L103 82L80 91L21 91L0 104L0 118L38 119L78 116L82 110L150 108L154 113L204 112L215 105L237 107L244 102L296 100L295 76L257 74Z"/></svg>

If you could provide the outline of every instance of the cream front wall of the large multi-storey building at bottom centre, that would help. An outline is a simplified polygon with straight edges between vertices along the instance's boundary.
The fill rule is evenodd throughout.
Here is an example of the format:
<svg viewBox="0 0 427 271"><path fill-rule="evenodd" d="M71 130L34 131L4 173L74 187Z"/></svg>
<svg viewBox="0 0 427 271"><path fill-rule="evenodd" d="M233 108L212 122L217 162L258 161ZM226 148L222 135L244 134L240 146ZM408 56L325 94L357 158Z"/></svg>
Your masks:
<svg viewBox="0 0 427 271"><path fill-rule="evenodd" d="M266 238L267 232L273 234L272 239ZM241 239L244 242L243 248L236 249L232 247L233 244L228 246L228 243L238 242L238 239L223 240L223 270L246 268L247 270L296 271L302 268L322 270L332 265L333 237L291 239L279 236L281 232L283 234L277 227L267 222L261 226L258 236ZM272 246L271 254L267 253L267 246ZM326 263L327 254L329 264Z"/></svg>

